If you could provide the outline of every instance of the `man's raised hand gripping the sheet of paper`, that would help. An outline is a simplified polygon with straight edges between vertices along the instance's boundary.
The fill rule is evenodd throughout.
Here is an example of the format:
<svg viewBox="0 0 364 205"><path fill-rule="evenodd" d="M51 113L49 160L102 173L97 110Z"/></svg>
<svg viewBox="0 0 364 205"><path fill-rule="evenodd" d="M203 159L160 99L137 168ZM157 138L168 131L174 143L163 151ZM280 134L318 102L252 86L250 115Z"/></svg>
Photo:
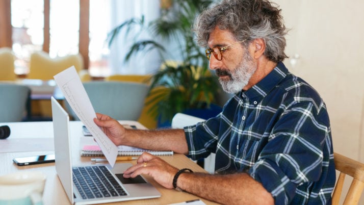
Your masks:
<svg viewBox="0 0 364 205"><path fill-rule="evenodd" d="M96 113L96 116L97 119L93 119L95 124L101 128L103 133L105 133L115 145L121 145L125 135L125 128L117 120L108 115Z"/></svg>

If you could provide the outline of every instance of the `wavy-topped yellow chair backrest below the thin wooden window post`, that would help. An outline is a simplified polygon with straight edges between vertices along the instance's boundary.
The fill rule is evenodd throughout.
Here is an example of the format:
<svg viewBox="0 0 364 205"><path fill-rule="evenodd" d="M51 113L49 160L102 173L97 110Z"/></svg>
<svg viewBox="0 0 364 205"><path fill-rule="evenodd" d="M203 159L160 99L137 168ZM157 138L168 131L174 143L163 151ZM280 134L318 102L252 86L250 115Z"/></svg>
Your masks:
<svg viewBox="0 0 364 205"><path fill-rule="evenodd" d="M35 52L30 57L28 79L53 80L57 73L74 66L77 72L84 68L81 54L67 55L64 57L50 58L43 51Z"/></svg>

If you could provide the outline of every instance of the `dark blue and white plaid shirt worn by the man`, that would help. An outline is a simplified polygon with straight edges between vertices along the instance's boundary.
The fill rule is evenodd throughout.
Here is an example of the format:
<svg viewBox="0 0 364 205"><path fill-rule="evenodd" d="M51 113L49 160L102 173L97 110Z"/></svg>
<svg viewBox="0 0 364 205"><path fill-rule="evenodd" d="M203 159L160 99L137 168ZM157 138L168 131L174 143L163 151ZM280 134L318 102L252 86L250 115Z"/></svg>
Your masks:
<svg viewBox="0 0 364 205"><path fill-rule="evenodd" d="M276 204L331 203L335 167L326 106L283 63L185 133L192 159L215 152L217 173L248 172Z"/></svg>

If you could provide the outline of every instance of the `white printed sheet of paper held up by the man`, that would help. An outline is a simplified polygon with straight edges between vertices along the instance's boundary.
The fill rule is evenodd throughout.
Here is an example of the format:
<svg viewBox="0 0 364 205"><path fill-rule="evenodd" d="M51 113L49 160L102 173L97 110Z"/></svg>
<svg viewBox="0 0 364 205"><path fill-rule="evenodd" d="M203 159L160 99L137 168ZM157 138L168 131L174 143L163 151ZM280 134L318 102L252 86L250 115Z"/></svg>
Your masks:
<svg viewBox="0 0 364 205"><path fill-rule="evenodd" d="M96 118L95 110L74 66L58 73L54 79L68 104L95 138L110 165L114 167L118 147L93 121Z"/></svg>

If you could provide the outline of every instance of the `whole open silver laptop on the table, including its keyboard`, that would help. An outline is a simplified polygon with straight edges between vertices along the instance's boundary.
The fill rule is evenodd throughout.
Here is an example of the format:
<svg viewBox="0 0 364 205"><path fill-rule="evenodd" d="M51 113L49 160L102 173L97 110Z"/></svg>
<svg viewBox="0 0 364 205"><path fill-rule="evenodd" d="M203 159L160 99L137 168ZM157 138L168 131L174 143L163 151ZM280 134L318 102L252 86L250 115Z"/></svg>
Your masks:
<svg viewBox="0 0 364 205"><path fill-rule="evenodd" d="M72 204L95 204L161 197L143 176L123 178L131 163L72 165L69 116L51 97L56 171ZM106 173L103 173L106 172Z"/></svg>

